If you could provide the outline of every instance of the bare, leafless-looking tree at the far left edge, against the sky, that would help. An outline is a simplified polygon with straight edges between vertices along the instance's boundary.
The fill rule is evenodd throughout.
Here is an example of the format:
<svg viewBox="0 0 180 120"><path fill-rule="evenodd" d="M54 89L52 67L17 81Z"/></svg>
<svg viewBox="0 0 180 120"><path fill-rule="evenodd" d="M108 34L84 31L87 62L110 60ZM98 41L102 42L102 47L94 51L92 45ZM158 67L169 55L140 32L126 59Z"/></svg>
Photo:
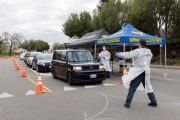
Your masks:
<svg viewBox="0 0 180 120"><path fill-rule="evenodd" d="M20 33L13 33L12 35L8 32L3 32L1 38L4 40L5 44L9 47L9 55L12 54L13 47L19 46L24 40L24 37Z"/></svg>

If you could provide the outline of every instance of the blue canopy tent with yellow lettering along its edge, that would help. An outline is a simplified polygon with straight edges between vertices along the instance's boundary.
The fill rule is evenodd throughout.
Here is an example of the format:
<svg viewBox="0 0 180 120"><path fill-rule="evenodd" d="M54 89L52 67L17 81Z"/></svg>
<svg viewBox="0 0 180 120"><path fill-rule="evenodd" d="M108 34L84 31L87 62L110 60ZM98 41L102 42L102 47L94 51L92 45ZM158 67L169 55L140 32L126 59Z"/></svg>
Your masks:
<svg viewBox="0 0 180 120"><path fill-rule="evenodd" d="M152 36L141 32L140 30L133 27L131 24L127 24L123 29L118 32L109 35L105 38L100 38L95 40L95 55L96 55L96 46L99 45L123 45L124 52L125 46L135 46L138 44L140 39L145 39L147 45L165 45L165 73L167 75L167 64L166 64L166 39Z"/></svg>

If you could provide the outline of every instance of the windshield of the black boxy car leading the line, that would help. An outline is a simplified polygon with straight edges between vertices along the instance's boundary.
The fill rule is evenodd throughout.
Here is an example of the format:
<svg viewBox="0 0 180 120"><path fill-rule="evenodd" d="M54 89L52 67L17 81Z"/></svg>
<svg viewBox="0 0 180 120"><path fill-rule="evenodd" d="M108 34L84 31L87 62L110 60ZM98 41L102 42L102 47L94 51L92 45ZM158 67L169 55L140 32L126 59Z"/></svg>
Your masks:
<svg viewBox="0 0 180 120"><path fill-rule="evenodd" d="M68 62L86 62L93 61L89 51L70 51L67 53Z"/></svg>

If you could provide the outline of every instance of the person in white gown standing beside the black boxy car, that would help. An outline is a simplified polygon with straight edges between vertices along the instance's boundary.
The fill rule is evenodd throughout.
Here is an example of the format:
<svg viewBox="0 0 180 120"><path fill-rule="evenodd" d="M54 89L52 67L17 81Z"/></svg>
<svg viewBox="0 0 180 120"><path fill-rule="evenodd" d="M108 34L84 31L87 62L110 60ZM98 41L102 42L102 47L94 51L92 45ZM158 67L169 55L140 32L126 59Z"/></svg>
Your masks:
<svg viewBox="0 0 180 120"><path fill-rule="evenodd" d="M110 58L111 54L109 51L106 50L106 46L103 46L103 51L99 54L101 58L101 62L104 65L104 69L106 71L106 78L110 78L110 72L112 71L110 67Z"/></svg>

